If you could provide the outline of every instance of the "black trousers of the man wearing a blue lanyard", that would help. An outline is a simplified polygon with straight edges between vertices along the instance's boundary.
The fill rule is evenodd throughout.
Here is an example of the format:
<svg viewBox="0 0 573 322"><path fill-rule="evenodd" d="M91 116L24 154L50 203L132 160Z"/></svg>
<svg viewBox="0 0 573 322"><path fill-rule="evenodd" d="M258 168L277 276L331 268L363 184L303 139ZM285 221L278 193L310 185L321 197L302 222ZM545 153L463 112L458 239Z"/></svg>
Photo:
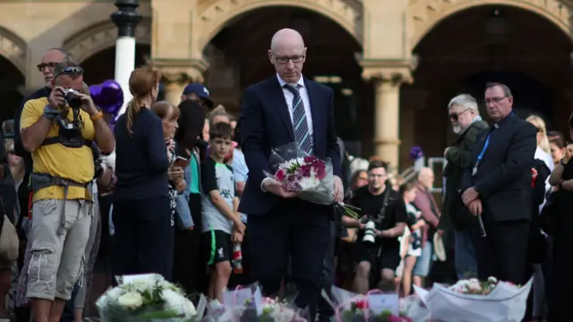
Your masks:
<svg viewBox="0 0 573 322"><path fill-rule="evenodd" d="M495 276L500 281L526 284L529 222L526 220L485 224L486 237L474 230L477 275L482 280Z"/></svg>

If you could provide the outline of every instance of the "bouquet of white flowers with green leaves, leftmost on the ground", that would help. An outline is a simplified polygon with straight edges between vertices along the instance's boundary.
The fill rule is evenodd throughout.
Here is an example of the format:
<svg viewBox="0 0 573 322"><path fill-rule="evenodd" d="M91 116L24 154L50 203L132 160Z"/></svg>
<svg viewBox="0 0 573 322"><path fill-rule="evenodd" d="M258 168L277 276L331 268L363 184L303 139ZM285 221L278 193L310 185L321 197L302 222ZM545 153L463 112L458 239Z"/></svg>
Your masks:
<svg viewBox="0 0 573 322"><path fill-rule="evenodd" d="M197 309L183 290L157 274L118 277L96 302L103 322L193 322L201 321L206 300L201 295Z"/></svg>

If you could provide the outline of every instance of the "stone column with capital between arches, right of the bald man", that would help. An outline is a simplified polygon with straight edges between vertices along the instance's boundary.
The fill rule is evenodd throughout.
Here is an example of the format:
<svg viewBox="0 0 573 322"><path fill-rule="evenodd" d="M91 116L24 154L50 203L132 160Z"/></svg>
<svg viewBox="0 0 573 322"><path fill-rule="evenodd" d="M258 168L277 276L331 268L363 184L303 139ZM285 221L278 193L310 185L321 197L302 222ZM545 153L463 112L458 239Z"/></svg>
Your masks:
<svg viewBox="0 0 573 322"><path fill-rule="evenodd" d="M376 155L399 166L400 86L412 81L411 62L362 61L363 79L374 85L374 150Z"/></svg>

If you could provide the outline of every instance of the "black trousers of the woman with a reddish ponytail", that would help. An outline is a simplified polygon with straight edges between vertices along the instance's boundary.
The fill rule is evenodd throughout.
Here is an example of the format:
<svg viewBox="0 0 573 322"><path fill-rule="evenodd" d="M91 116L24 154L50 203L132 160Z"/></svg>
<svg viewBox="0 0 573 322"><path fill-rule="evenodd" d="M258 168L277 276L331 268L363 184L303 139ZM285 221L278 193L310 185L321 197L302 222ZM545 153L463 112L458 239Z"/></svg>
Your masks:
<svg viewBox="0 0 573 322"><path fill-rule="evenodd" d="M174 227L169 198L114 202L114 275L157 273L172 280Z"/></svg>

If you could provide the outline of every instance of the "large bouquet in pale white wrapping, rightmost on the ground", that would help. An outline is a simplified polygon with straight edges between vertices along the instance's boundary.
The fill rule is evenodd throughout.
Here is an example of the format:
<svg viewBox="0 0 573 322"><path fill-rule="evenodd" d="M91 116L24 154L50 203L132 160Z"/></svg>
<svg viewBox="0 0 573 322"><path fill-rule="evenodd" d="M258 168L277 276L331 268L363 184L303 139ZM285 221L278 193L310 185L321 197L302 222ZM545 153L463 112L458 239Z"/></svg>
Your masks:
<svg viewBox="0 0 573 322"><path fill-rule="evenodd" d="M431 291L414 288L433 319L511 322L524 317L531 284L532 280L519 286L490 277L487 281L461 280L452 286L433 284Z"/></svg>

